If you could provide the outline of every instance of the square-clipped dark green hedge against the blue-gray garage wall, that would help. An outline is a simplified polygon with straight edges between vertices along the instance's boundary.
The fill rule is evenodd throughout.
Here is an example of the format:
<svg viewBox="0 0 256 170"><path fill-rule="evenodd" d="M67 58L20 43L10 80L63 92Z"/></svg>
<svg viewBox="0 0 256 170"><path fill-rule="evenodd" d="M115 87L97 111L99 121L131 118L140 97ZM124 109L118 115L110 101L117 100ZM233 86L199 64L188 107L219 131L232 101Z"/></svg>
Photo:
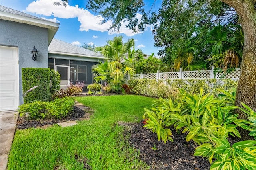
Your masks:
<svg viewBox="0 0 256 170"><path fill-rule="evenodd" d="M50 94L50 69L49 68L22 68L23 93L34 86L39 86L28 92L24 97L24 103L34 101L49 101Z"/></svg>

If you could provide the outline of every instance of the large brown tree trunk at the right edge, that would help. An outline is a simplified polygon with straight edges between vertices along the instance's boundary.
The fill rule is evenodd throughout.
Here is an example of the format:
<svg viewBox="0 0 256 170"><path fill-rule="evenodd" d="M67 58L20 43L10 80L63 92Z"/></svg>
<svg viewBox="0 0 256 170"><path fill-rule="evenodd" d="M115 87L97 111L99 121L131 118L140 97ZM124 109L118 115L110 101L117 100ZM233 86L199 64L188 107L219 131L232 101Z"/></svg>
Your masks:
<svg viewBox="0 0 256 170"><path fill-rule="evenodd" d="M239 15L239 21L244 31L244 51L241 64L241 75L236 91L235 105L242 107L241 102L256 111L256 11L255 0L221 0L232 6ZM246 119L239 109L240 119ZM246 139L248 132L240 131ZM244 134L247 133L247 134Z"/></svg>

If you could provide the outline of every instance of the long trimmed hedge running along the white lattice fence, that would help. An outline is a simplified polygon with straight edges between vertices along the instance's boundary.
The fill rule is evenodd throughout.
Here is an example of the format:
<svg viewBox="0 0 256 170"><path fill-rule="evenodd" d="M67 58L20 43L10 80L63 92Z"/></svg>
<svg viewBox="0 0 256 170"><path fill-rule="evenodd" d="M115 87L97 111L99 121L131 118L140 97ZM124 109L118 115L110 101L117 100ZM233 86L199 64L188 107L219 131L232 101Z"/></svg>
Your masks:
<svg viewBox="0 0 256 170"><path fill-rule="evenodd" d="M237 87L238 81L231 79L188 79L188 80L128 80L130 92L146 96L176 98L179 88L190 94L199 94L203 88L204 94L218 94L217 89L230 90Z"/></svg>

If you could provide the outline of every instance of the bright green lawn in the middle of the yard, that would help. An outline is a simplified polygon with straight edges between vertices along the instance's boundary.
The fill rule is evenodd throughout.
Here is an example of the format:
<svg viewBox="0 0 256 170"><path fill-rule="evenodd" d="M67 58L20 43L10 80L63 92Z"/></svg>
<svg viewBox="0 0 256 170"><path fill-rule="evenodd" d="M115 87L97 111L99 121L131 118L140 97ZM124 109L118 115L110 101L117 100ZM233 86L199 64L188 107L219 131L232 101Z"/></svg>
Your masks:
<svg viewBox="0 0 256 170"><path fill-rule="evenodd" d="M72 127L17 130L8 160L8 170L131 170L148 169L129 147L124 127L118 121L139 122L143 108L153 98L116 95L77 97L94 109L89 121Z"/></svg>

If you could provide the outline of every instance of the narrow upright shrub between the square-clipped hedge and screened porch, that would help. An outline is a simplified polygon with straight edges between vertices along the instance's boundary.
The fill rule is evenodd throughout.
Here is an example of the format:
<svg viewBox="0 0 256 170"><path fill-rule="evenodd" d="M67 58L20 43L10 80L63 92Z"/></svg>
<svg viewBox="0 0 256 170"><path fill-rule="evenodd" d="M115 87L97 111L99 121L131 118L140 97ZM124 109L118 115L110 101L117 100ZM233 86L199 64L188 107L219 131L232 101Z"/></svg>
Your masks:
<svg viewBox="0 0 256 170"><path fill-rule="evenodd" d="M53 100L52 96L60 90L60 74L50 69L50 100Z"/></svg>

